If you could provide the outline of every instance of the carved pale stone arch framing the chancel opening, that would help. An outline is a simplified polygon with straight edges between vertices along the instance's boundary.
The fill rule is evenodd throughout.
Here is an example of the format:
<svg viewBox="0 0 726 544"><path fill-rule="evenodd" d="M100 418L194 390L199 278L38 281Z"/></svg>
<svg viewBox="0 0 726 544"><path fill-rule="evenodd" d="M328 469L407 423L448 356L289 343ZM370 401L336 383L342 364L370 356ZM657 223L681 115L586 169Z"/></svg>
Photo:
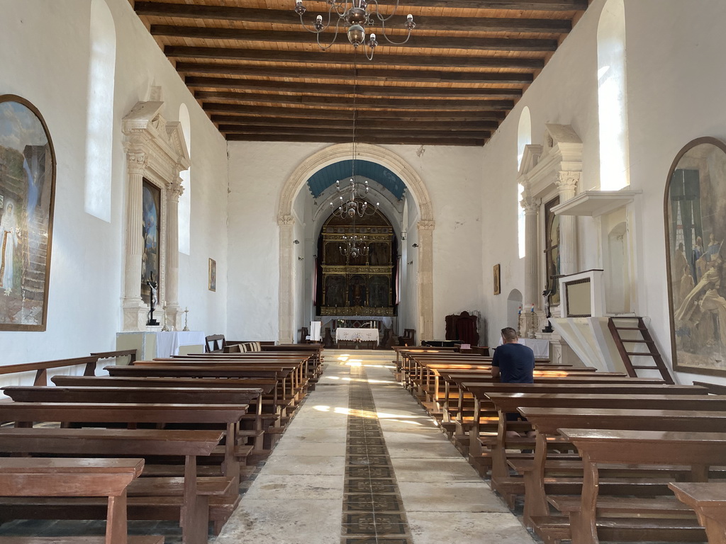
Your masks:
<svg viewBox="0 0 726 544"><path fill-rule="evenodd" d="M287 178L280 192L277 224L280 226L280 342L293 341L293 204L306 179L327 165L351 156L350 144L335 144L303 160ZM378 162L395 171L406 184L419 209L419 338L433 338L433 207L423 180L399 155L372 144L356 144L356 158Z"/></svg>

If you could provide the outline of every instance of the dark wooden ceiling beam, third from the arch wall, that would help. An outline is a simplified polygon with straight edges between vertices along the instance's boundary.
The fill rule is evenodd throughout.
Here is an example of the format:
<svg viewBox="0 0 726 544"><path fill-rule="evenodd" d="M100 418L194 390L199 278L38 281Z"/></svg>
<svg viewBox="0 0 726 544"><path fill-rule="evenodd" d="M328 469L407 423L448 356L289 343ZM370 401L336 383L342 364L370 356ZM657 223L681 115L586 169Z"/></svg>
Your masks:
<svg viewBox="0 0 726 544"><path fill-rule="evenodd" d="M219 130L224 127L233 128L235 126L266 126L266 127L295 127L298 129L309 128L312 123L309 118L269 118L269 117L253 117L251 115L212 115L212 123L219 124ZM498 121L492 120L460 120L460 121L431 121L431 120L411 120L406 123L407 128L415 128L417 130L479 130L479 131L495 131L499 128ZM314 126L317 128L335 128L340 131L351 131L351 120L343 119L316 119ZM367 116L356 120L356 127L375 128L379 131L400 130L401 121L399 120L381 120L370 119Z"/></svg>

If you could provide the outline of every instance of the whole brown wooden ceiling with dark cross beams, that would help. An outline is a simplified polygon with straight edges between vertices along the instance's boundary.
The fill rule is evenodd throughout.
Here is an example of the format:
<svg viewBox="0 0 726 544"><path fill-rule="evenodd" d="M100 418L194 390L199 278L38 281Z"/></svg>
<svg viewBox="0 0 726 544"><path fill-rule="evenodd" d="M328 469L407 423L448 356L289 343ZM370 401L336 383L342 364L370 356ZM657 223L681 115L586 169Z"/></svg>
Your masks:
<svg viewBox="0 0 726 544"><path fill-rule="evenodd" d="M304 0L310 23L324 1ZM386 15L393 1L380 4ZM372 61L321 51L292 0L153 0L134 9L230 141L481 146L534 81L588 0L400 0ZM269 9L267 7L269 7ZM325 15L327 18L327 15ZM335 13L333 14L334 18ZM323 44L333 33L320 36ZM326 41L327 40L327 41Z"/></svg>

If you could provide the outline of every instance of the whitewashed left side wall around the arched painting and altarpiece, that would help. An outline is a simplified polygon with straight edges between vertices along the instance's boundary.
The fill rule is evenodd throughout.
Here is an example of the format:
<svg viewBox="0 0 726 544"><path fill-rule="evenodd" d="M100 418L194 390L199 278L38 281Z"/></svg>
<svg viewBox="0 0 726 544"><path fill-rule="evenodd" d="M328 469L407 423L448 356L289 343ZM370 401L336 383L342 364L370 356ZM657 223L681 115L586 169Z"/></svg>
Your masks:
<svg viewBox="0 0 726 544"><path fill-rule="evenodd" d="M179 301L189 327L226 326L226 144L127 0L107 0L116 27L113 181L110 223L83 209L90 0L0 0L0 94L30 100L46 120L57 158L48 323L44 332L0 332L0 364L88 355L115 348L121 328L126 159L121 119L151 85L163 88L164 114L185 102L195 134L192 254L181 255ZM220 205L221 203L221 205ZM216 257L216 294L207 291Z"/></svg>

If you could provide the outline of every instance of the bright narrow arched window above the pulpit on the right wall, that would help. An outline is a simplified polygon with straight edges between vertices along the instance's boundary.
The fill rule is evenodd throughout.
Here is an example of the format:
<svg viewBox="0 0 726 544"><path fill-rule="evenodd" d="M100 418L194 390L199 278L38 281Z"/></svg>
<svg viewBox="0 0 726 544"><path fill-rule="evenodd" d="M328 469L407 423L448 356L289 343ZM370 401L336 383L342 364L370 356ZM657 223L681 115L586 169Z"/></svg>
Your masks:
<svg viewBox="0 0 726 544"><path fill-rule="evenodd" d="M597 103L600 119L600 189L630 184L625 81L624 0L608 0L597 26Z"/></svg>

